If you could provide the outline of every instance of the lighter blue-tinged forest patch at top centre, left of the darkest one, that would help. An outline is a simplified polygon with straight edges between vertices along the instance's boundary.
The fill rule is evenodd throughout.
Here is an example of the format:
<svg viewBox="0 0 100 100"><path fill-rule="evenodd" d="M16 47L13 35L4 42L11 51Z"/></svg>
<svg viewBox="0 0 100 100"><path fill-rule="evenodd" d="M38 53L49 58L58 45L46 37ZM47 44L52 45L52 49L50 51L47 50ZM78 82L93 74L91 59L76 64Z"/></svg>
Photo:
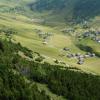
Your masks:
<svg viewBox="0 0 100 100"><path fill-rule="evenodd" d="M36 3L31 3L29 6L31 10L56 10L63 9L65 7L65 0L38 0Z"/></svg>

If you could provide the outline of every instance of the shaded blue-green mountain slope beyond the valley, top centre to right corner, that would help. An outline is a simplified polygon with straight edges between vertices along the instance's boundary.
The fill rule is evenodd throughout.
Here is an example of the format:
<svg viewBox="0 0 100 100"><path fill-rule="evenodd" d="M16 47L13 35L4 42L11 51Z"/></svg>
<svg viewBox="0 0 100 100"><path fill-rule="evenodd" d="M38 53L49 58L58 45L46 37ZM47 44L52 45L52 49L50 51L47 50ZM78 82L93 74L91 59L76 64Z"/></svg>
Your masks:
<svg viewBox="0 0 100 100"><path fill-rule="evenodd" d="M90 19L100 15L100 0L37 0L30 4L33 11L50 11L67 19Z"/></svg>

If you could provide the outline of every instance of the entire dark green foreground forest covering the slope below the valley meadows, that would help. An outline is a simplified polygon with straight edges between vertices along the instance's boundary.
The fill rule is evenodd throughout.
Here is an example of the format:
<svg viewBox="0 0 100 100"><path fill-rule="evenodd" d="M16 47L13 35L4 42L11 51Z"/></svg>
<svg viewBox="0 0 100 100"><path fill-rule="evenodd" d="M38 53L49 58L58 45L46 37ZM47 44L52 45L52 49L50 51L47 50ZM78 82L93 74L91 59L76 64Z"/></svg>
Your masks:
<svg viewBox="0 0 100 100"><path fill-rule="evenodd" d="M77 68L63 68L40 60L29 61L32 52L20 43L0 40L0 99L50 100L32 81L45 83L48 88L68 100L99 100L100 77L80 72Z"/></svg>

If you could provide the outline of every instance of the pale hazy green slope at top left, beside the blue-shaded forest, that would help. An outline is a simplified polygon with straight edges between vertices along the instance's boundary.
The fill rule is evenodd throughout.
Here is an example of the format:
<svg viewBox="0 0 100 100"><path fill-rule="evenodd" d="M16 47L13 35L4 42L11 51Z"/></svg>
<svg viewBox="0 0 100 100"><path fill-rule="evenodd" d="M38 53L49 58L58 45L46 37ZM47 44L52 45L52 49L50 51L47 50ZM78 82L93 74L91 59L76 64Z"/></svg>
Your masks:
<svg viewBox="0 0 100 100"><path fill-rule="evenodd" d="M31 14L27 4L33 0L0 0L0 12Z"/></svg>

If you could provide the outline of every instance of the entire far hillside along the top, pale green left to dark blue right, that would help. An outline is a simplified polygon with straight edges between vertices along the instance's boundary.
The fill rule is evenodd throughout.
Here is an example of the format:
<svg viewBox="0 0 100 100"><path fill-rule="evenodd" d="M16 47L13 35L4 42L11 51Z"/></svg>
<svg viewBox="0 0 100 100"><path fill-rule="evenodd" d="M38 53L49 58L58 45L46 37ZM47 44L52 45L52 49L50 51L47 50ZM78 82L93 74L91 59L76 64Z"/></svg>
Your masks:
<svg viewBox="0 0 100 100"><path fill-rule="evenodd" d="M48 12L47 17L56 17L60 13L60 18L67 21L88 20L100 15L99 0L4 0L0 2L1 12L16 12L26 15L33 12L42 12L41 14L45 15Z"/></svg>

